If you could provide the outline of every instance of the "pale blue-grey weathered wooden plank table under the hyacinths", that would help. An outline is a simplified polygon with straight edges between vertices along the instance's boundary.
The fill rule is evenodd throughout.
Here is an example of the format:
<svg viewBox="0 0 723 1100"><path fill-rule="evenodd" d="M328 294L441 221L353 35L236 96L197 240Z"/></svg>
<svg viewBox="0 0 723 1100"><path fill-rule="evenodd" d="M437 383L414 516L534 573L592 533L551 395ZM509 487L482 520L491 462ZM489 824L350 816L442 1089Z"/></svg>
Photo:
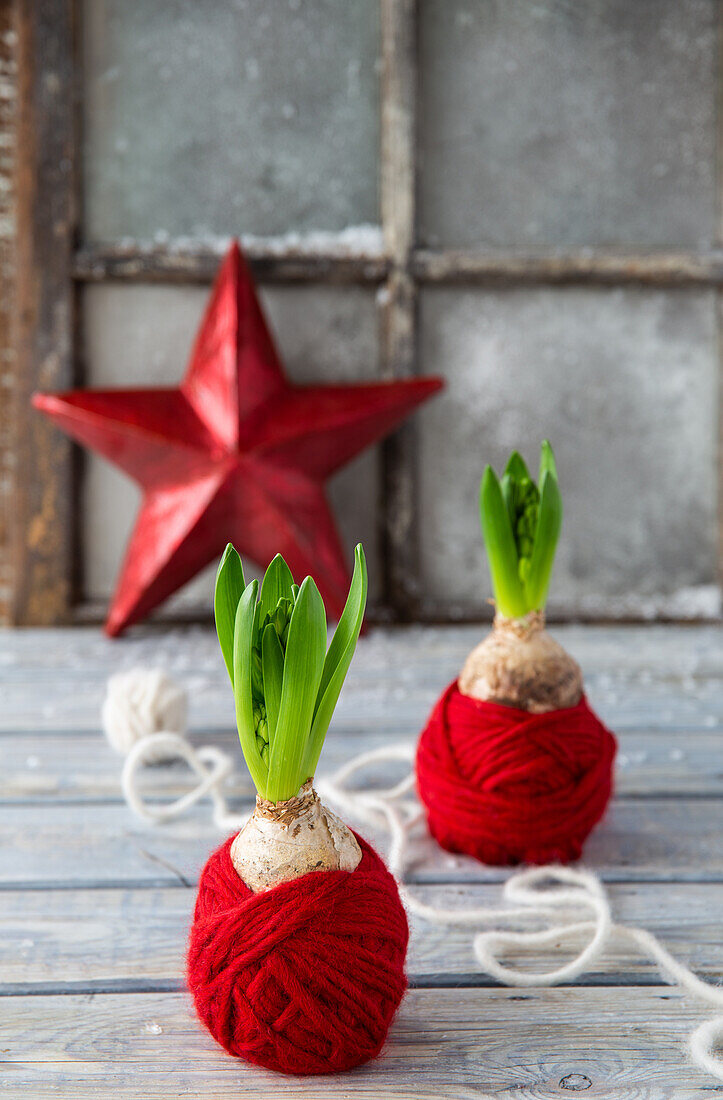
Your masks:
<svg viewBox="0 0 723 1100"><path fill-rule="evenodd" d="M723 979L723 637L705 627L559 627L620 740L617 793L587 849L615 917L642 924L702 977ZM362 639L322 768L414 739L480 629ZM0 634L0 1088L13 1097L589 1097L683 1100L723 1086L686 1057L712 1013L612 944L569 987L503 989L469 932L413 922L410 990L382 1056L343 1077L292 1079L228 1057L197 1023L184 949L199 868L219 843L204 803L163 826L127 809L99 715L108 675L160 666L189 691L191 739L235 756L252 789L218 645L201 628L108 641L96 629ZM370 780L390 781L377 770ZM172 798L180 766L144 773ZM353 823L352 823L353 824ZM383 837L370 836L383 849ZM501 869L415 844L421 898L496 904ZM530 966L550 959L529 953Z"/></svg>

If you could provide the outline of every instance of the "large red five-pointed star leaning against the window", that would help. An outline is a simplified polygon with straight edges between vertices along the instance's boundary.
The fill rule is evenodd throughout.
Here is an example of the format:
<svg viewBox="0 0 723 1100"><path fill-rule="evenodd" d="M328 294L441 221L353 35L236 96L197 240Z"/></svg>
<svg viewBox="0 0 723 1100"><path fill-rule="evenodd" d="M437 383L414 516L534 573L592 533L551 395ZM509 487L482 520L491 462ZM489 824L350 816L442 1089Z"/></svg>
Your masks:
<svg viewBox="0 0 723 1100"><path fill-rule="evenodd" d="M295 386L233 242L177 389L35 394L33 404L143 488L106 629L120 634L218 558L282 553L338 618L349 572L324 482L442 385Z"/></svg>

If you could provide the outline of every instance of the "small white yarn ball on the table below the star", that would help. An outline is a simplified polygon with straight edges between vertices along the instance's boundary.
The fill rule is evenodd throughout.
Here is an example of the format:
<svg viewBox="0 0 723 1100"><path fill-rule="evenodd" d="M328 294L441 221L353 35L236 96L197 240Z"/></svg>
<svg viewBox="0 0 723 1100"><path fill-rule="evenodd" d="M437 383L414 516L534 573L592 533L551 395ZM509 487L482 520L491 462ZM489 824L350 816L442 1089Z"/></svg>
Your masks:
<svg viewBox="0 0 723 1100"><path fill-rule="evenodd" d="M123 756L151 734L184 734L186 714L185 690L161 669L130 669L117 672L108 681L103 729L112 747ZM163 750L144 756L155 762L168 758Z"/></svg>

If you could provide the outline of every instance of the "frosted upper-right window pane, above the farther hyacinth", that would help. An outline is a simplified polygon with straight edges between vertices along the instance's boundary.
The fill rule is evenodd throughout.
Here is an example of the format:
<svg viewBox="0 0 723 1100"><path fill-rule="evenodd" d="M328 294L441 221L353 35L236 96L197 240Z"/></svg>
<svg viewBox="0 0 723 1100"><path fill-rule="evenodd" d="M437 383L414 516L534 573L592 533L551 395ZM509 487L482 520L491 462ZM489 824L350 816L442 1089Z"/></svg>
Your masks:
<svg viewBox="0 0 723 1100"><path fill-rule="evenodd" d="M715 0L421 0L428 244L710 245Z"/></svg>

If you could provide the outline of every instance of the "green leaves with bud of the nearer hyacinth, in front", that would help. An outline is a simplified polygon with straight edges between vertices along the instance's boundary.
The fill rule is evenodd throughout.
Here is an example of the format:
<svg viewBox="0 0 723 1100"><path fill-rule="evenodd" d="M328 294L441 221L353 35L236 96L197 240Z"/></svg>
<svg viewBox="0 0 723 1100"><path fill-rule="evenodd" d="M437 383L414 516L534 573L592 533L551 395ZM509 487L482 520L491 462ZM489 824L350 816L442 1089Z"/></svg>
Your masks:
<svg viewBox="0 0 723 1100"><path fill-rule="evenodd" d="M339 625L327 651L327 618L307 576L299 586L277 554L247 585L231 543L216 575L213 607L233 688L241 749L259 794L292 799L314 776L351 663L366 606L361 543Z"/></svg>

